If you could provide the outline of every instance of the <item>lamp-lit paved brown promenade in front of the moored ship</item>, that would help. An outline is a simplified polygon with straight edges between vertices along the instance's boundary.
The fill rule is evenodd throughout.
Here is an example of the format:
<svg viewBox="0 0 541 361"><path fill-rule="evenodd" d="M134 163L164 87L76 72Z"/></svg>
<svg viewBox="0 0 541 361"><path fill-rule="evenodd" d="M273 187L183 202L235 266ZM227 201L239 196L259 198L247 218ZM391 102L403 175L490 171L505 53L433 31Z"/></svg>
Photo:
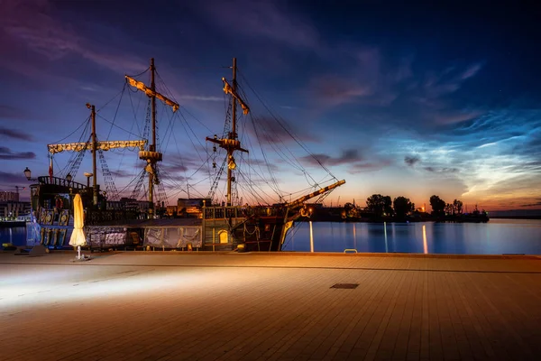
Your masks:
<svg viewBox="0 0 541 361"><path fill-rule="evenodd" d="M0 360L541 356L541 257L75 255L0 253Z"/></svg>

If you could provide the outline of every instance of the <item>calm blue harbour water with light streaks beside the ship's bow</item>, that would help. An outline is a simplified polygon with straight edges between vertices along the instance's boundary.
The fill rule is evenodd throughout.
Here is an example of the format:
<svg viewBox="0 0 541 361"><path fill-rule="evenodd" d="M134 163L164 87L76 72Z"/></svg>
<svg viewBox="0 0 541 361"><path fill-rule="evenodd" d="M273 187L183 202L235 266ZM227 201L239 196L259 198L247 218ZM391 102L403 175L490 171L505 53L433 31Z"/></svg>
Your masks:
<svg viewBox="0 0 541 361"><path fill-rule="evenodd" d="M541 220L491 219L488 223L315 222L316 252L459 255L541 255ZM289 231L285 251L309 252L307 223Z"/></svg>

